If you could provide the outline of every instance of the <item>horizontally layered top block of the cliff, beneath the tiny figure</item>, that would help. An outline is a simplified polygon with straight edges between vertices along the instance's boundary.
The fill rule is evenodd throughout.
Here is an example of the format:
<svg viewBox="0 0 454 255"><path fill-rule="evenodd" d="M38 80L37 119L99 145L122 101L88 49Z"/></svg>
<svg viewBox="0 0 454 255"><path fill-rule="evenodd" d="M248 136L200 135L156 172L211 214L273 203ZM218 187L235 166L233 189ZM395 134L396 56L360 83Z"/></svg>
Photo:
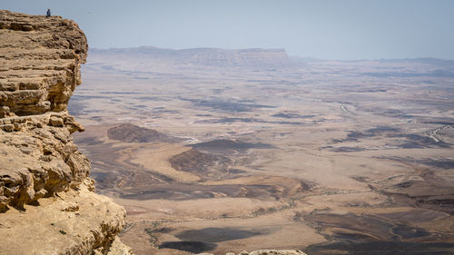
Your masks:
<svg viewBox="0 0 454 255"><path fill-rule="evenodd" d="M0 118L62 112L88 44L74 21L0 11Z"/></svg>

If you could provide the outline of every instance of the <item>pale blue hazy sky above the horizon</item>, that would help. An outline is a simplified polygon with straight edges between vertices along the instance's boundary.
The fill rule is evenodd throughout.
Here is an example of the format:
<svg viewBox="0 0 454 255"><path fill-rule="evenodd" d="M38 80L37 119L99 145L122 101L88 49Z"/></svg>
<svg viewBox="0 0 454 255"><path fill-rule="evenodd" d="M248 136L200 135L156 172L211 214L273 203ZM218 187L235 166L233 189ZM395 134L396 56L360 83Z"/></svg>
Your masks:
<svg viewBox="0 0 454 255"><path fill-rule="evenodd" d="M454 59L454 0L0 0L74 19L95 48L285 48L324 59Z"/></svg>

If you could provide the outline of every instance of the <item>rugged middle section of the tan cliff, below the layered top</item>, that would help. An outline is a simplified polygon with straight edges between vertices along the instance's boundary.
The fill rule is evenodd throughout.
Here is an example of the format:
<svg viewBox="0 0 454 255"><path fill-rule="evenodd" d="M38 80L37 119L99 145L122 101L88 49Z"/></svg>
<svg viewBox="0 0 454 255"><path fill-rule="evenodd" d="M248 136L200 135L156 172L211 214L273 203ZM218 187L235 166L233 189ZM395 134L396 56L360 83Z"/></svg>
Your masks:
<svg viewBox="0 0 454 255"><path fill-rule="evenodd" d="M66 191L88 177L90 162L64 127L65 114L49 114L0 119L0 211Z"/></svg>

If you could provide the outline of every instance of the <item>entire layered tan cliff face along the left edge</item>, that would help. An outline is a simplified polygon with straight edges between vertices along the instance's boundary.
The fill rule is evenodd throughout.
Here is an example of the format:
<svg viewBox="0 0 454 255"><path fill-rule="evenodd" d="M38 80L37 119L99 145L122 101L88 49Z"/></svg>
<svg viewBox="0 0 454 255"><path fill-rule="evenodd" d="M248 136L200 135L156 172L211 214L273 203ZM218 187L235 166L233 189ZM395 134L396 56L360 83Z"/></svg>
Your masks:
<svg viewBox="0 0 454 255"><path fill-rule="evenodd" d="M88 45L69 20L0 11L0 253L129 254L66 112Z"/></svg>

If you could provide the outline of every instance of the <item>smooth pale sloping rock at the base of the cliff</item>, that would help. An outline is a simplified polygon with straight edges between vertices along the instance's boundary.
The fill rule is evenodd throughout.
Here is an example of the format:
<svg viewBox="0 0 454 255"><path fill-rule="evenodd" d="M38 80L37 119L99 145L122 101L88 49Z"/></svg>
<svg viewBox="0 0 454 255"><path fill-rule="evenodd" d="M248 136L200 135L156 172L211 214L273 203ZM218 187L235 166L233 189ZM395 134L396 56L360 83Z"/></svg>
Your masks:
<svg viewBox="0 0 454 255"><path fill-rule="evenodd" d="M92 254L98 250L106 254L111 247L127 250L115 241L123 229L124 216L123 207L81 184L77 191L41 199L39 206L25 205L22 211L11 209L0 214L0 253Z"/></svg>

